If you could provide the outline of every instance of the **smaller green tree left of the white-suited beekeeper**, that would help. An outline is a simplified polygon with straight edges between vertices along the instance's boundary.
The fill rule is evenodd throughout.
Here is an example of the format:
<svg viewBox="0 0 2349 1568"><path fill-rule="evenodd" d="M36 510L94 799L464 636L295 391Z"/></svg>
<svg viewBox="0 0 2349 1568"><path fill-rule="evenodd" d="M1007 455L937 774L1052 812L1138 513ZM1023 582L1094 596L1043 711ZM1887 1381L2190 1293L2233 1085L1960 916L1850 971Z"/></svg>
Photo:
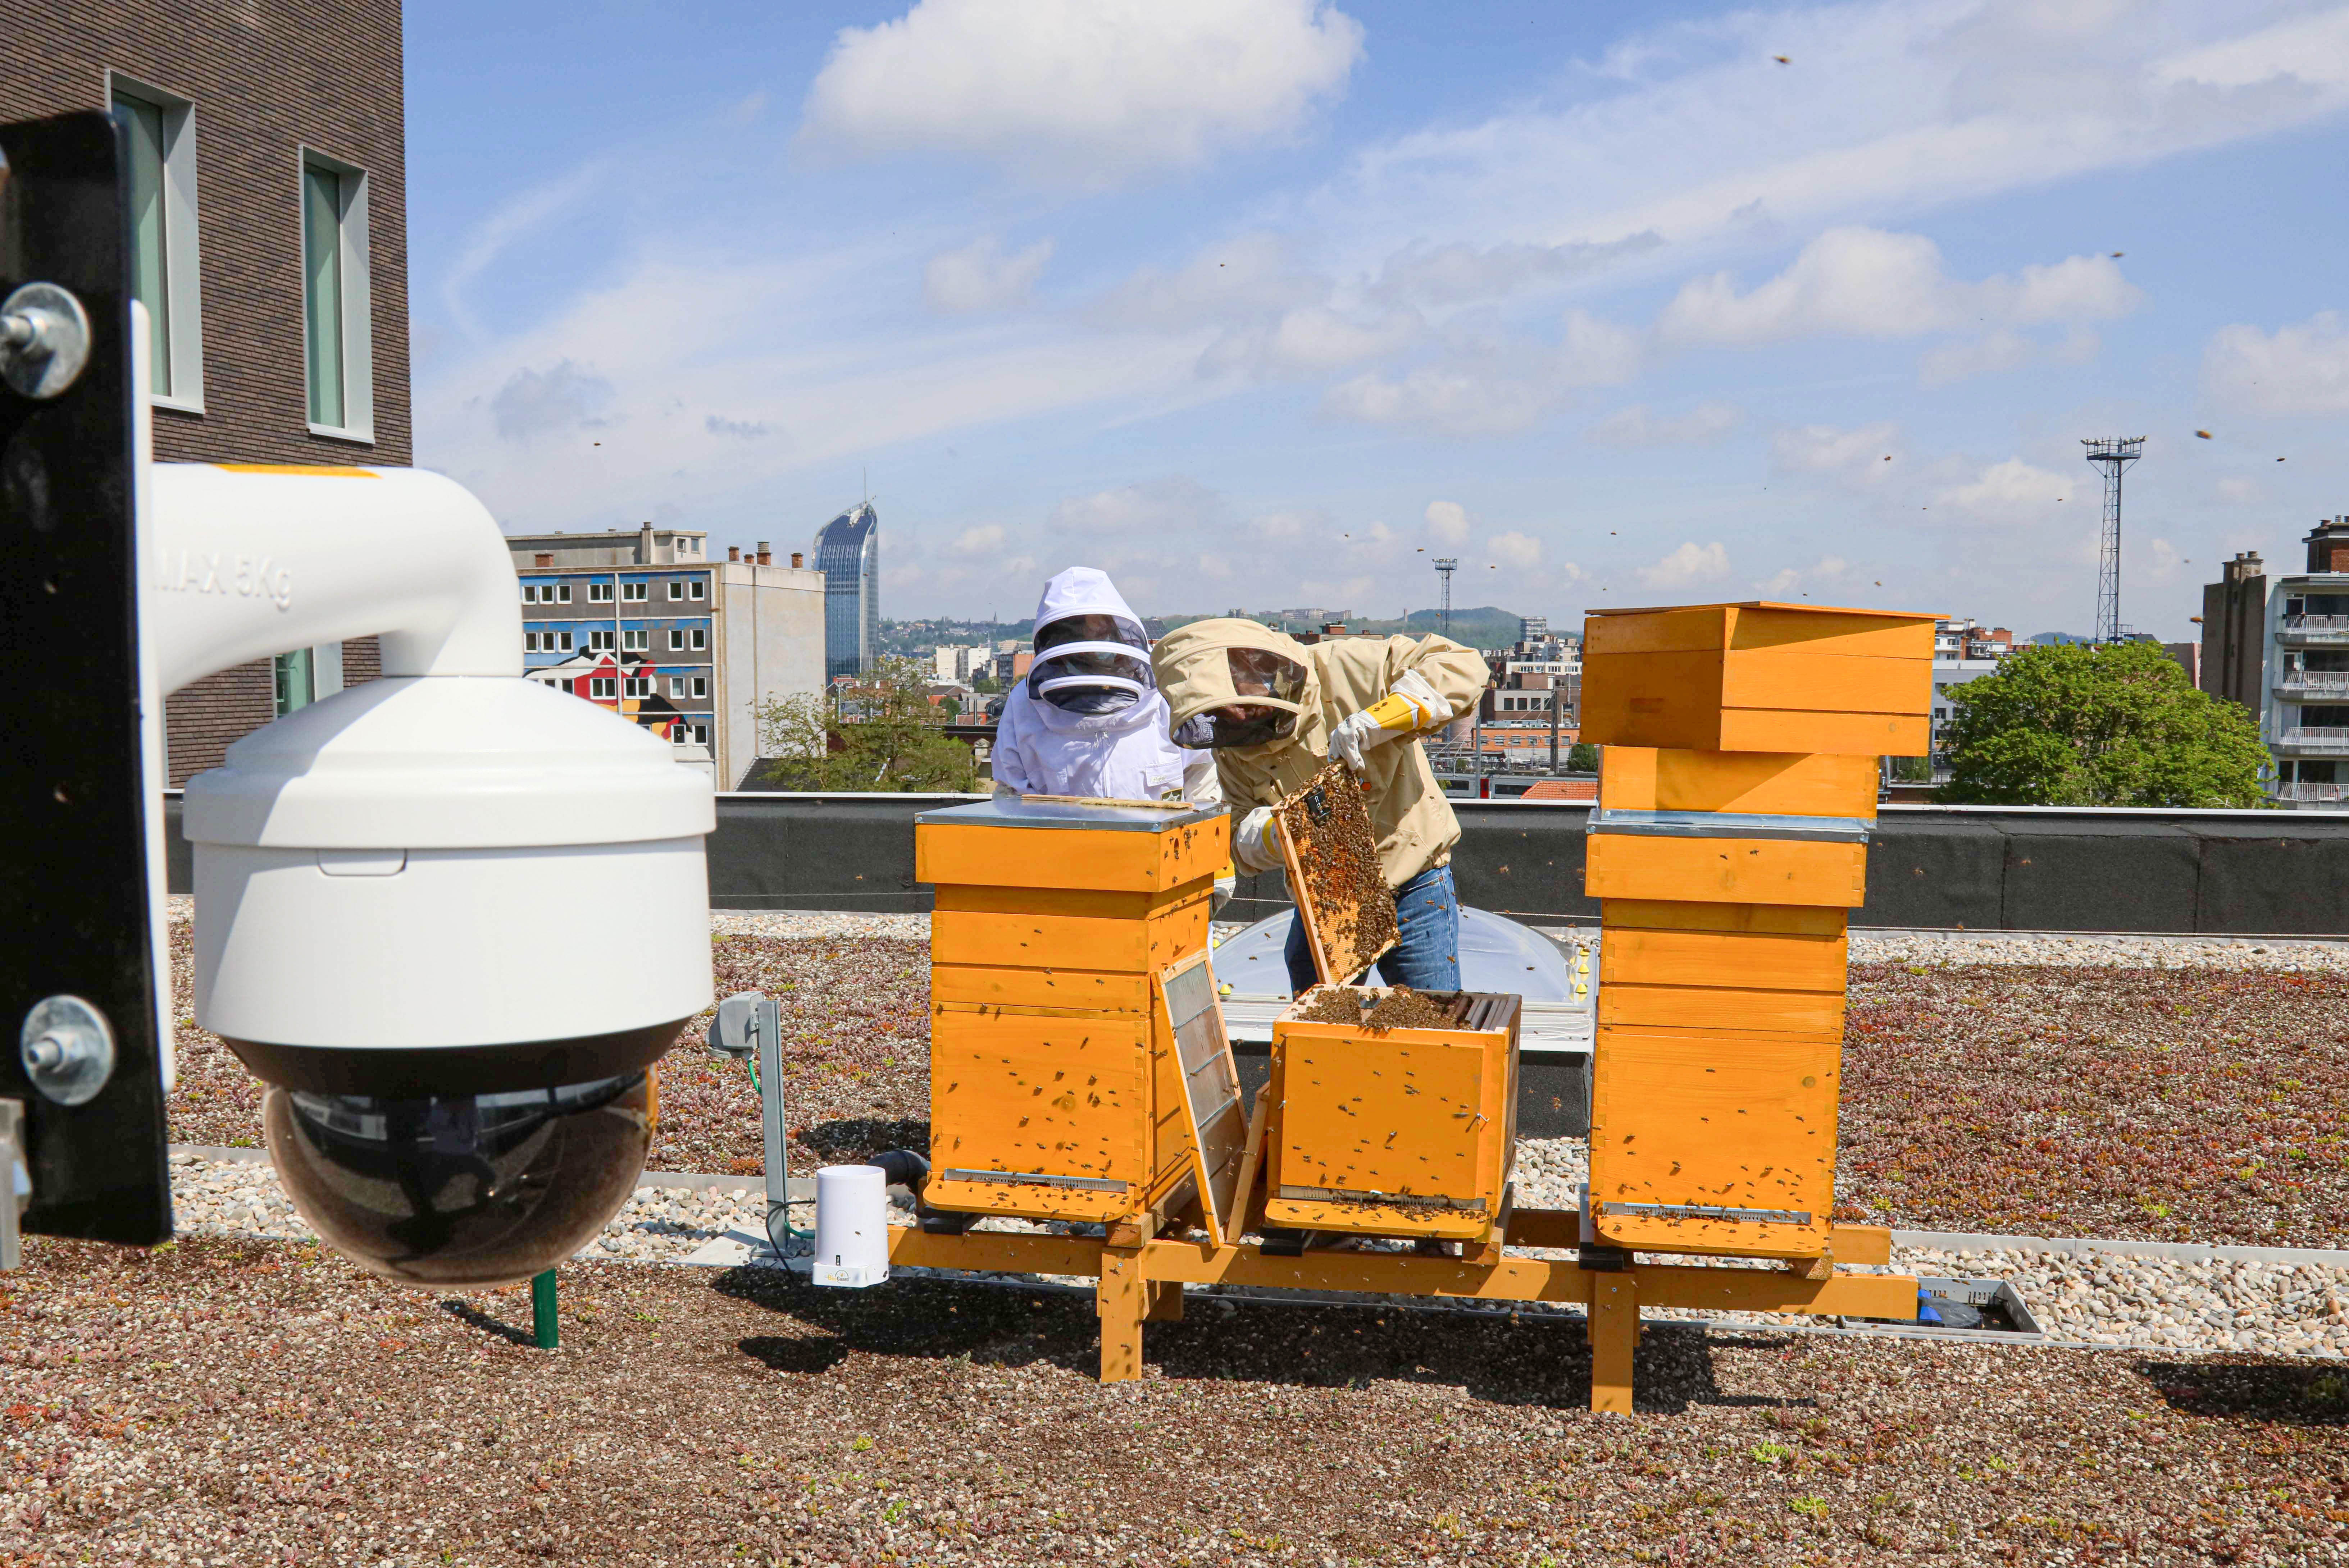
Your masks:
<svg viewBox="0 0 2349 1568"><path fill-rule="evenodd" d="M759 784L824 791L942 791L980 786L980 765L942 730L930 671L883 657L855 685L759 704Z"/></svg>

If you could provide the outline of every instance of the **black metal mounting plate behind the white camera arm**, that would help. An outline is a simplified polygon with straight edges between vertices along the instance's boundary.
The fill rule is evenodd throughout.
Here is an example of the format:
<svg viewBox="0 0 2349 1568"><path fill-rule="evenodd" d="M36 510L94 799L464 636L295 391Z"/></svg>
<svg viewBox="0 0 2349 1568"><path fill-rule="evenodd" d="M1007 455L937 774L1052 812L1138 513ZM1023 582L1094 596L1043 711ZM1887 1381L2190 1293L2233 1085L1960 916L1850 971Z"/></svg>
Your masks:
<svg viewBox="0 0 2349 1568"><path fill-rule="evenodd" d="M63 392L0 385L0 669L16 690L0 746L0 1096L26 1106L42 1235L155 1244L171 1235L162 1061L148 927L148 782L139 744L132 357L115 122L0 124L0 300L45 282L89 317L89 364ZM70 650L63 653L63 650ZM94 1099L59 1106L19 1059L26 1014L73 995L113 1035Z"/></svg>

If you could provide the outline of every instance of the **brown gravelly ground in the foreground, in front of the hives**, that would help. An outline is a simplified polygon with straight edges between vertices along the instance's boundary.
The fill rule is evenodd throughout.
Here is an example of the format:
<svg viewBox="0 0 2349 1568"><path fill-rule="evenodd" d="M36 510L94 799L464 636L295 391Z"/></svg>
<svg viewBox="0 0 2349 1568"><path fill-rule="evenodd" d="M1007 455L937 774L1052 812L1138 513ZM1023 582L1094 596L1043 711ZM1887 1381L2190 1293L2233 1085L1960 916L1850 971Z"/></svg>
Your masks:
<svg viewBox="0 0 2349 1568"><path fill-rule="evenodd" d="M0 1298L0 1561L2340 1563L2349 1387L2246 1357L571 1265L439 1298L317 1249L35 1242Z"/></svg>

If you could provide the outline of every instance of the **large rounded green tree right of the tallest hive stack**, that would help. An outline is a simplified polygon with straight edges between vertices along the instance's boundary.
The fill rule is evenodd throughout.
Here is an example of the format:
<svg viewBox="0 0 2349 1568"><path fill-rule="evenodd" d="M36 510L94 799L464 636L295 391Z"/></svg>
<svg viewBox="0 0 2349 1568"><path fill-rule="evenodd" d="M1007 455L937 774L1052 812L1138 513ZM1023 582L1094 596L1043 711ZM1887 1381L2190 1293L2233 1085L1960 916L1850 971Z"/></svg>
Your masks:
<svg viewBox="0 0 2349 1568"><path fill-rule="evenodd" d="M1950 688L1966 805L2262 805L2267 749L2248 709L2187 685L2161 643L2037 646Z"/></svg>

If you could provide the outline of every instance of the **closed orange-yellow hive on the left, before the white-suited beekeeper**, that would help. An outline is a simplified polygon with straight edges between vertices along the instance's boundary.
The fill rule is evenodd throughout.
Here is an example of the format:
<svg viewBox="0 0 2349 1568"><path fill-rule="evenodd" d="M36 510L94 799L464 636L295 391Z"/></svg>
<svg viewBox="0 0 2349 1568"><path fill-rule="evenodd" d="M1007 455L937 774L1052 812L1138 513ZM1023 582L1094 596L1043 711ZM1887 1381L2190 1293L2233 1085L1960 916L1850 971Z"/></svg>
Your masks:
<svg viewBox="0 0 2349 1568"><path fill-rule="evenodd" d="M1193 1176L1158 974L1207 948L1224 807L998 798L914 819L935 1209L1118 1221Z"/></svg>

